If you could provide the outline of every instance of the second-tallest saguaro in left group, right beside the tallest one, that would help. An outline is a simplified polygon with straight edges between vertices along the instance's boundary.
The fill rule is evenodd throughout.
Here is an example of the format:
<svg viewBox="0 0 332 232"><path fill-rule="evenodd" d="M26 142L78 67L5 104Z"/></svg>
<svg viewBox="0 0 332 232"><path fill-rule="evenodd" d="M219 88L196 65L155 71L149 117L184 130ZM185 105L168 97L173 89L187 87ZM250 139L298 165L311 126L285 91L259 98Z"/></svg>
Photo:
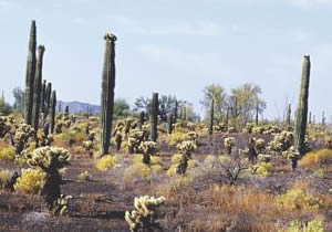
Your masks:
<svg viewBox="0 0 332 232"><path fill-rule="evenodd" d="M33 110L32 110L32 124L35 133L38 131L38 127L39 127L44 51L45 48L43 45L38 46L38 60L37 60L37 70L35 70L35 77L34 77Z"/></svg>

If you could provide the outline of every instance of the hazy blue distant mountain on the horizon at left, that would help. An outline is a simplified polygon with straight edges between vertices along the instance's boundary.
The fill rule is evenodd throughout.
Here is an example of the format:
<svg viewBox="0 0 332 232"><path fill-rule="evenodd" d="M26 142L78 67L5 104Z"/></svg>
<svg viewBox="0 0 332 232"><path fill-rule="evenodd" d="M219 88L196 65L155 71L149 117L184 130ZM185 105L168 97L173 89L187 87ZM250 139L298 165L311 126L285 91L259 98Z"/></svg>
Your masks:
<svg viewBox="0 0 332 232"><path fill-rule="evenodd" d="M69 106L70 114L80 114L80 113L86 113L87 112L87 106L91 115L95 115L101 112L101 106L98 105L93 105L89 103L80 103L80 102L62 102L58 101L56 102L56 112L59 112L59 107L61 105L61 112L64 112L65 107Z"/></svg>

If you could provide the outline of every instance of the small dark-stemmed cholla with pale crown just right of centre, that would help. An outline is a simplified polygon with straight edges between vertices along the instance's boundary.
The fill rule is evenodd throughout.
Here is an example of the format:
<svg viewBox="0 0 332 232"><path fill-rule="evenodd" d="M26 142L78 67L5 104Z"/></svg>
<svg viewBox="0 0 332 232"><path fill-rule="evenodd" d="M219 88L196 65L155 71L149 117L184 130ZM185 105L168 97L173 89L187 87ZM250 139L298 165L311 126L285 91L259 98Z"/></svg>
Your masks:
<svg viewBox="0 0 332 232"><path fill-rule="evenodd" d="M181 160L177 165L176 173L185 175L188 167L188 160L191 158L191 152L197 149L195 141L183 141L176 146L181 154Z"/></svg>

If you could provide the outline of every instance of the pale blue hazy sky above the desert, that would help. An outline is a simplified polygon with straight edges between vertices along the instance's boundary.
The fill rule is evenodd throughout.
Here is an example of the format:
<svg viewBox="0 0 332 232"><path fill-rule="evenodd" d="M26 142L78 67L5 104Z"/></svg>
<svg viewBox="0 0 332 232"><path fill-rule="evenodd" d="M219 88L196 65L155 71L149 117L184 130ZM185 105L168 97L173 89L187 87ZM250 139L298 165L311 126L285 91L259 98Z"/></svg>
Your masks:
<svg viewBox="0 0 332 232"><path fill-rule="evenodd" d="M31 20L58 98L98 104L103 35L116 42L116 97L194 103L204 86L261 86L266 116L297 103L311 54L310 108L332 115L332 0L0 0L0 89L24 86Z"/></svg>

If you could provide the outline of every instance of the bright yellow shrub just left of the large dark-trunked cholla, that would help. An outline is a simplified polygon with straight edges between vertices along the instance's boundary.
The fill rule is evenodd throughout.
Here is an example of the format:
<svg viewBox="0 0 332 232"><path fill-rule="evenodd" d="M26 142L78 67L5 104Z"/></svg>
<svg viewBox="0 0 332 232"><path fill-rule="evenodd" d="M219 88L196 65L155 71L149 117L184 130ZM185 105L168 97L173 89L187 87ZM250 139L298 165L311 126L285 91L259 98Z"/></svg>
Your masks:
<svg viewBox="0 0 332 232"><path fill-rule="evenodd" d="M14 190L28 194L41 194L45 178L46 175L41 170L22 169L21 177L14 184Z"/></svg>

